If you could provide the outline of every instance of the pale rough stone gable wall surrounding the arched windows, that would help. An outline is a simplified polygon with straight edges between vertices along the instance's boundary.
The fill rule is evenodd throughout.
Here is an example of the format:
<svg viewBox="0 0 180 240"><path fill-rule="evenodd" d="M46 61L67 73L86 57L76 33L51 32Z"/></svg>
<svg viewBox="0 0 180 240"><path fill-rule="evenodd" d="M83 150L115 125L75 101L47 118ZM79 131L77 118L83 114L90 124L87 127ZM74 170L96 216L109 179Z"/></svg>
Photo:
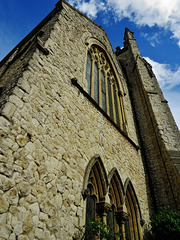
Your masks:
<svg viewBox="0 0 180 240"><path fill-rule="evenodd" d="M117 65L113 50L104 30L63 5L45 43L49 54L36 48L1 111L1 239L72 239L85 223L81 190L96 154L107 173L116 167L123 183L130 178L145 230L149 222L140 150L71 84L76 77L86 88L87 37L100 39ZM127 119L133 124L132 112ZM130 137L137 139L135 130Z"/></svg>

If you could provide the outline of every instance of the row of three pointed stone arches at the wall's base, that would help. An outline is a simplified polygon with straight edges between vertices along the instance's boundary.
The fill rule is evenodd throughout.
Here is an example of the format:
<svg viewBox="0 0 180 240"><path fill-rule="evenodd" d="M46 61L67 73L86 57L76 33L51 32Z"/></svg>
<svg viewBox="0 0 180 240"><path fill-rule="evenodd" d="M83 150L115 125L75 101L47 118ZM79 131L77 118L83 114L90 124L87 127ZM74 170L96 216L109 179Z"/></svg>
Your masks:
<svg viewBox="0 0 180 240"><path fill-rule="evenodd" d="M86 225L101 218L123 240L142 240L142 217L134 187L127 179L123 186L116 168L106 174L100 156L93 157L85 171L83 197L86 200ZM93 240L91 234L86 240Z"/></svg>

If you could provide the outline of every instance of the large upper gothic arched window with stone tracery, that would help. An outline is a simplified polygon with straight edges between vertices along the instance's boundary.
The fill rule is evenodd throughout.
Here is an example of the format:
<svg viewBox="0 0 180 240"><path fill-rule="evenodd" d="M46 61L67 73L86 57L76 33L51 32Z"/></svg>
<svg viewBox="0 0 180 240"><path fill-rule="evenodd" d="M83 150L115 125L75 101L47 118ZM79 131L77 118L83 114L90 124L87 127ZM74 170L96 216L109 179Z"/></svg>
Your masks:
<svg viewBox="0 0 180 240"><path fill-rule="evenodd" d="M88 93L111 120L123 130L125 120L122 101L112 65L105 52L92 45L87 54L86 80Z"/></svg>

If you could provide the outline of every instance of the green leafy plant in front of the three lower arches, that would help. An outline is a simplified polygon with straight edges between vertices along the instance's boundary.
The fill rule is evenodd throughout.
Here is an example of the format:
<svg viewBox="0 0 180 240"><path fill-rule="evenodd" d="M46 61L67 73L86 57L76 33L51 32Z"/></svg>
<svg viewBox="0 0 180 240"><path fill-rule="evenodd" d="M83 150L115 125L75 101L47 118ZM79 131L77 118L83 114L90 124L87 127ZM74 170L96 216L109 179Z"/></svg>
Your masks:
<svg viewBox="0 0 180 240"><path fill-rule="evenodd" d="M94 237L100 240L115 240L120 239L121 233L114 233L113 229L105 225L101 219L90 220L88 224L88 231L91 231Z"/></svg>

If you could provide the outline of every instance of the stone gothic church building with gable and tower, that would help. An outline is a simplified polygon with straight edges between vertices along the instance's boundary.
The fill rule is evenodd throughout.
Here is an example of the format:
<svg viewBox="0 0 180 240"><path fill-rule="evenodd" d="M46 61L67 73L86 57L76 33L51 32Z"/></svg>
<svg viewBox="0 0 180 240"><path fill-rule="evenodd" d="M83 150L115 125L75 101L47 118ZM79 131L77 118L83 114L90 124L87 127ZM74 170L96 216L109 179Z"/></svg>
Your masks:
<svg viewBox="0 0 180 240"><path fill-rule="evenodd" d="M180 208L179 130L129 29L114 52L59 1L1 61L0 103L0 239L80 240L99 217L147 240Z"/></svg>

